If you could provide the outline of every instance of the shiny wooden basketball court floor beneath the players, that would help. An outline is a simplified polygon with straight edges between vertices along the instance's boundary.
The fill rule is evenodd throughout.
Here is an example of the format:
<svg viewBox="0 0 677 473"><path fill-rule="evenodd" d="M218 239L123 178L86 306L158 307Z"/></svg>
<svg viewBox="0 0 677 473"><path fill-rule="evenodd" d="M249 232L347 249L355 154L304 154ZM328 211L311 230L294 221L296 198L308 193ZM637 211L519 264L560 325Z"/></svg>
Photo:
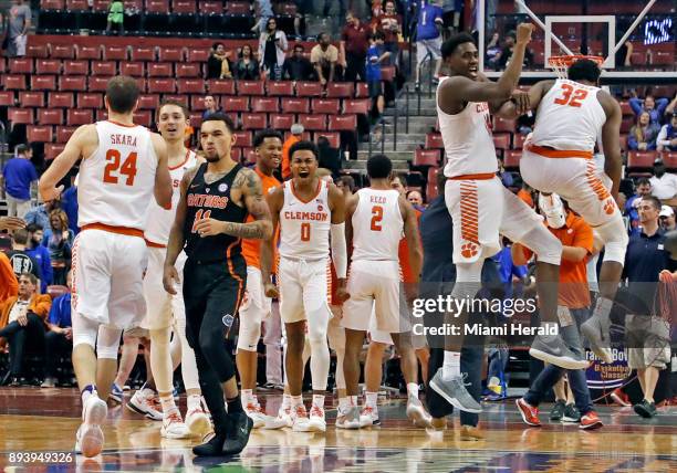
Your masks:
<svg viewBox="0 0 677 473"><path fill-rule="evenodd" d="M263 397L274 413L281 396ZM258 430L232 459L195 459L194 441L166 440L159 424L125 407L113 407L104 428L104 453L94 460L67 455L80 423L75 389L0 388L0 469L6 472L677 472L677 408L659 409L652 420L631 408L598 410L605 423L585 432L576 425L521 422L513 401L485 403L481 441L460 439L458 418L445 432L413 428L404 399L379 407L383 424L360 431L330 427L325 435ZM327 404L327 418L335 410ZM42 452L42 460L39 453ZM11 454L14 455L11 455ZM17 462L17 453L32 461ZM27 455L28 453L28 455ZM33 454L34 453L34 454ZM49 453L49 455L48 455ZM55 453L61 453L58 458ZM31 455L32 454L32 455ZM70 456L70 458L69 458ZM10 459L14 462L10 463ZM53 460L56 460L52 462Z"/></svg>

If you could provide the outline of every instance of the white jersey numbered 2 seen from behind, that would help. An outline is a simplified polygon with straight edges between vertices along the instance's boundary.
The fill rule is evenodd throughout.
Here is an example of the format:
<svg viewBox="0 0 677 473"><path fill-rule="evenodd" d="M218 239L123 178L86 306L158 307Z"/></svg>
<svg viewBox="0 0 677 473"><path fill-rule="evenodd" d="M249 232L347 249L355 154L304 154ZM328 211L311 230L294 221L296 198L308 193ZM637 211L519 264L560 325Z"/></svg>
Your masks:
<svg viewBox="0 0 677 473"><path fill-rule="evenodd" d="M353 225L353 261L398 261L397 251L404 231L396 190L357 191L360 200Z"/></svg>

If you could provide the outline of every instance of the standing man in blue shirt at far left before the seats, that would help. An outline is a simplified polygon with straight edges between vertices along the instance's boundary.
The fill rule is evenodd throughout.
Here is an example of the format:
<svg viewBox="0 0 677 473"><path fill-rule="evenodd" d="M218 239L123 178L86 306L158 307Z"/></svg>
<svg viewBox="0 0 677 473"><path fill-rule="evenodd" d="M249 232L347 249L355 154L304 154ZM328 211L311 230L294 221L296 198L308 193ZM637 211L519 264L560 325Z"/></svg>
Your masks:
<svg viewBox="0 0 677 473"><path fill-rule="evenodd" d="M38 172L31 162L30 146L17 146L17 155L2 168L2 193L7 198L9 217L24 218L31 208L31 185L38 180Z"/></svg>

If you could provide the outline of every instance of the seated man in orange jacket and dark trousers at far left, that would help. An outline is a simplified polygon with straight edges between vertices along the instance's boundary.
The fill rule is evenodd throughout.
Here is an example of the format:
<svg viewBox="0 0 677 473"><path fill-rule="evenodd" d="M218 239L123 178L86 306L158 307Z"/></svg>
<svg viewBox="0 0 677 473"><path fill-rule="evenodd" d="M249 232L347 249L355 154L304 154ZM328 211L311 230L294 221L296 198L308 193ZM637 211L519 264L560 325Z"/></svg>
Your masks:
<svg viewBox="0 0 677 473"><path fill-rule="evenodd" d="M2 383L21 386L27 347L44 350L44 319L52 299L38 294L38 280L30 273L19 276L19 295L0 305L0 348L9 343L10 369Z"/></svg>

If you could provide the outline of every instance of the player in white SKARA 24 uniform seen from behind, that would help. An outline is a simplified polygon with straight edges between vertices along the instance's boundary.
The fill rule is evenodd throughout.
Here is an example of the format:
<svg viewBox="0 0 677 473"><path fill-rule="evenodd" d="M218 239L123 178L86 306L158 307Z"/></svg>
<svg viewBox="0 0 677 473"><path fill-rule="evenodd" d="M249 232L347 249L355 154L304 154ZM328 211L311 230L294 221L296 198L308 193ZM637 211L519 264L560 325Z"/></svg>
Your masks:
<svg viewBox="0 0 677 473"><path fill-rule="evenodd" d="M56 185L82 158L72 305L73 367L83 401L76 449L86 456L103 448L103 399L115 377L122 330L137 326L146 312L148 202L155 195L160 207L171 208L167 147L159 135L134 125L138 95L134 78L112 77L104 98L108 119L77 128L40 179L42 199L54 200L63 189Z"/></svg>

